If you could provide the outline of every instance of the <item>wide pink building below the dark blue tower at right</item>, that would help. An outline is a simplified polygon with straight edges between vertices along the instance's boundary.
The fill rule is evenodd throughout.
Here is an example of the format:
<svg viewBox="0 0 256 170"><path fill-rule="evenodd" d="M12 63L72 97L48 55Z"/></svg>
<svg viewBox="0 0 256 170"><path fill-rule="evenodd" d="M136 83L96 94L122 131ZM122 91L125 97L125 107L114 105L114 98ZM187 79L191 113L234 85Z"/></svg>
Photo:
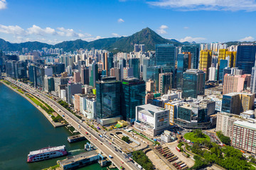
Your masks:
<svg viewBox="0 0 256 170"><path fill-rule="evenodd" d="M225 74L223 81L223 94L240 92L250 87L250 74L232 75Z"/></svg>

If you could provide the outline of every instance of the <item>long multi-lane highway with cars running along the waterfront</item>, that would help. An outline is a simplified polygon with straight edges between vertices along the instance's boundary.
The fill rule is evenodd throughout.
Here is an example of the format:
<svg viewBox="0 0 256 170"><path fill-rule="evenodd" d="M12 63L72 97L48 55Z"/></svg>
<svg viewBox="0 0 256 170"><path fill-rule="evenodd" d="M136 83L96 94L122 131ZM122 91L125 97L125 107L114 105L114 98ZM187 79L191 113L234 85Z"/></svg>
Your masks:
<svg viewBox="0 0 256 170"><path fill-rule="evenodd" d="M53 108L53 110L63 116L63 118L70 123L78 132L80 132L82 135L86 137L87 140L93 143L97 149L100 149L100 151L105 154L105 156L109 157L109 155L112 156L112 159L110 161L117 166L118 169L121 169L122 166L124 169L139 169L133 162L130 162L129 159L125 159L124 155L120 154L117 150L114 149L112 144L107 141L107 139L102 138L99 136L99 134L92 130L89 126L87 126L85 123L82 123L79 118L77 118L75 115L70 113L68 110L63 108L63 106L60 106L59 103L54 101L51 98L48 98L47 96L41 94L40 92L36 91L36 89L32 89L31 86L28 86L27 84L23 84L22 82L15 81L14 79L11 79L9 77L4 77L4 79L10 81L13 84L16 84L16 86L19 86L21 89L24 89L30 94L33 94L33 96L36 96L37 98L40 98L45 103L48 103L48 105ZM88 135L86 134L88 133Z"/></svg>

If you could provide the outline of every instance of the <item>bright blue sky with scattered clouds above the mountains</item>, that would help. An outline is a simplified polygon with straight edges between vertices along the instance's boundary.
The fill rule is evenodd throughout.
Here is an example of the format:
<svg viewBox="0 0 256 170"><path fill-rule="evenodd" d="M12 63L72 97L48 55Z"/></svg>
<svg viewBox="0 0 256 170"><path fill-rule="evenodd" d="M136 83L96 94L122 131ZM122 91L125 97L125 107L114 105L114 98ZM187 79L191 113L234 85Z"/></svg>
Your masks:
<svg viewBox="0 0 256 170"><path fill-rule="evenodd" d="M256 0L0 0L9 42L92 41L146 27L181 42L254 41Z"/></svg>

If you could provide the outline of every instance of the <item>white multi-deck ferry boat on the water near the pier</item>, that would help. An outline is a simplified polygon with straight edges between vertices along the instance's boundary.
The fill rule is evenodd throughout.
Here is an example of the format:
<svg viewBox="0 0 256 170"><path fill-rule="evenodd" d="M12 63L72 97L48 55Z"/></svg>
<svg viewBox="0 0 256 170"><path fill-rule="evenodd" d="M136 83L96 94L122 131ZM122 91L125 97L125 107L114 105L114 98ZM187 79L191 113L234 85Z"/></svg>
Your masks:
<svg viewBox="0 0 256 170"><path fill-rule="evenodd" d="M38 162L55 157L62 157L68 154L65 145L59 147L45 147L29 152L27 162Z"/></svg>

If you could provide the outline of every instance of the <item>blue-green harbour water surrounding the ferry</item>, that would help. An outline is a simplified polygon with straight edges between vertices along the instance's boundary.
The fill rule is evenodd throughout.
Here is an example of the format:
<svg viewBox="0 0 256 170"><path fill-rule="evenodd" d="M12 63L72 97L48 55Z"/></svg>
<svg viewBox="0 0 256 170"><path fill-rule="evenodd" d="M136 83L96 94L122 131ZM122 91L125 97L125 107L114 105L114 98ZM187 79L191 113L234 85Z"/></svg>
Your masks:
<svg viewBox="0 0 256 170"><path fill-rule="evenodd" d="M65 145L71 154L84 152L87 141L68 143L65 127L53 128L46 117L25 98L0 83L0 169L44 169L65 157L26 163L30 151ZM92 164L82 169L106 169Z"/></svg>

